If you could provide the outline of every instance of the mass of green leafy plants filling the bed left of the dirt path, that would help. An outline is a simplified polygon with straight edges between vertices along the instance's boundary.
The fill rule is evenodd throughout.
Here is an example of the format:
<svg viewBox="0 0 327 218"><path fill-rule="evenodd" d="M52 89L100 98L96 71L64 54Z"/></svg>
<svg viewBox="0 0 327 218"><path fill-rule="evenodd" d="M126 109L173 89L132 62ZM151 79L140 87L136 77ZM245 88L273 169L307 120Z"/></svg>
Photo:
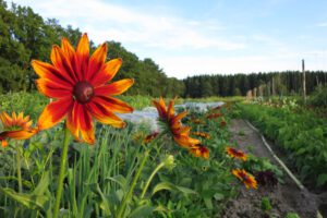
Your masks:
<svg viewBox="0 0 327 218"><path fill-rule="evenodd" d="M7 110L12 107L27 110L32 104L28 98L34 101L33 106L37 110L46 104L41 100L44 98L36 94L24 96L13 94L10 99L1 96L3 107ZM15 106L15 99L19 98L22 102ZM142 99L141 96L140 98ZM149 98L144 97L144 101L147 100ZM228 110L222 109L221 112L225 114L223 119L229 122ZM32 111L32 114L37 113L38 111ZM208 160L187 154L186 149L177 146L170 137L162 137L147 145L150 147L143 146L140 140L135 140L140 130L135 132L131 124L126 129L117 130L97 123L97 144L94 147L71 141L60 216L117 217L148 148L152 148L149 161L141 172L132 198L126 202L123 217L219 216L227 202L237 195L232 185L234 178L230 173L231 166L223 152L229 132L227 128L217 128L220 120L207 120L203 113L197 116L204 119L205 124L192 124L193 128L211 135L211 138L202 142L210 149ZM52 216L61 157L61 128L62 124L59 124L43 131L26 141L24 146L22 143L14 145L22 148L22 193L16 192L14 141L10 141L9 147L0 149L0 217ZM144 135L146 134L144 132ZM162 164L160 157L167 157L168 154L173 154L175 167L159 170L153 177L148 192L141 197L149 174Z"/></svg>

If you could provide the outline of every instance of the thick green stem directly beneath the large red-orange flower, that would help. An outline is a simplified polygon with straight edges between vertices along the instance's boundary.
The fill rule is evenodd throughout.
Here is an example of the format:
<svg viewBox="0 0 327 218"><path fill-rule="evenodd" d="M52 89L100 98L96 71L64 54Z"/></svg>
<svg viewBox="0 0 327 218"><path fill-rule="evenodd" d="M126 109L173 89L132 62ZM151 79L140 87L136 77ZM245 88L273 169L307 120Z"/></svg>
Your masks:
<svg viewBox="0 0 327 218"><path fill-rule="evenodd" d="M59 179L58 179L58 186L56 193L56 203L55 203L55 210L53 210L53 218L58 217L59 207L60 207L60 199L63 189L63 179L64 179L64 169L66 164L66 155L69 148L69 140L70 140L70 131L68 128L64 128L64 140L63 140L63 147L61 154L61 161L60 161L60 171L59 171Z"/></svg>

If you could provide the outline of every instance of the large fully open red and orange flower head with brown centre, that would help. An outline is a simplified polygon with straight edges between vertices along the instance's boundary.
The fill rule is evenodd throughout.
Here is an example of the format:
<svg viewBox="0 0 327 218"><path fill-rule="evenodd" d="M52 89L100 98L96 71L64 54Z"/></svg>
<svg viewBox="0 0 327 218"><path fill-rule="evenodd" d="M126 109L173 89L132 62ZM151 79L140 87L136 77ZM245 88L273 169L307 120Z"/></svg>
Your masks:
<svg viewBox="0 0 327 218"><path fill-rule="evenodd" d="M53 46L50 55L52 64L33 60L32 66L39 75L38 90L55 98L38 119L40 130L49 129L66 117L66 128L76 140L95 143L92 118L116 128L124 122L113 112L132 112L133 108L112 96L124 93L134 83L121 80L107 84L117 74L121 59L106 62L107 44L99 46L89 57L89 41L84 34L76 47L63 38L61 47Z"/></svg>

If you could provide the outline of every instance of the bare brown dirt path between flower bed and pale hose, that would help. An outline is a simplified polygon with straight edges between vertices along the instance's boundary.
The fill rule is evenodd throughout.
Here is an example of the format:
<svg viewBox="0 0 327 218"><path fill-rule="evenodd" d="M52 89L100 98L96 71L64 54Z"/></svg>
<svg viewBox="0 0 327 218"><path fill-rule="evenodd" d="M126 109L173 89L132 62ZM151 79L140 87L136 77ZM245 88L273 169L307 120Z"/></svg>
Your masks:
<svg viewBox="0 0 327 218"><path fill-rule="evenodd" d="M232 120L230 124L231 142L238 144L244 152L251 147L252 154L266 157L278 165L269 150L265 147L261 136L243 120ZM269 214L261 210L262 197L270 199L272 209ZM317 210L316 196L306 190L301 191L296 184L284 174L284 184L278 183L275 187L258 187L246 190L242 187L237 199L228 205L225 218L284 218L288 213L296 213L301 218L315 218Z"/></svg>

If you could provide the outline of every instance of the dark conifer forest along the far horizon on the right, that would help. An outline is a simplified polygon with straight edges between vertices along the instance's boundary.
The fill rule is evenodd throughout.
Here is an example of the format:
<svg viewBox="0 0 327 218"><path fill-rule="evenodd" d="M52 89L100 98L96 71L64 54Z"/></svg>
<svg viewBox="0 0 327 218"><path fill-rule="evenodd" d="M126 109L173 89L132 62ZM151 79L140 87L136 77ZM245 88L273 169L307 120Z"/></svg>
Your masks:
<svg viewBox="0 0 327 218"><path fill-rule="evenodd" d="M234 75L196 75L183 80L185 97L245 96L249 90L262 87L266 94L301 94L302 72L284 71ZM306 92L311 94L318 85L327 85L327 72L306 71Z"/></svg>

